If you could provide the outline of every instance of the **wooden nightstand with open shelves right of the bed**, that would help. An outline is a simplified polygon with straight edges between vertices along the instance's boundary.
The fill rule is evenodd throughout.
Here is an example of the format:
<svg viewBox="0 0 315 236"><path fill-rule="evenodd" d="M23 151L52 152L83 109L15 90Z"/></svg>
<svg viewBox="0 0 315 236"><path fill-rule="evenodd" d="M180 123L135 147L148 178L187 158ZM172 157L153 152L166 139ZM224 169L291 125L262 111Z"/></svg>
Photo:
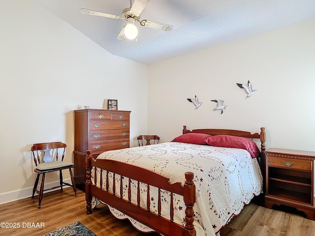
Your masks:
<svg viewBox="0 0 315 236"><path fill-rule="evenodd" d="M266 154L265 207L295 207L315 220L315 151L269 148Z"/></svg>

